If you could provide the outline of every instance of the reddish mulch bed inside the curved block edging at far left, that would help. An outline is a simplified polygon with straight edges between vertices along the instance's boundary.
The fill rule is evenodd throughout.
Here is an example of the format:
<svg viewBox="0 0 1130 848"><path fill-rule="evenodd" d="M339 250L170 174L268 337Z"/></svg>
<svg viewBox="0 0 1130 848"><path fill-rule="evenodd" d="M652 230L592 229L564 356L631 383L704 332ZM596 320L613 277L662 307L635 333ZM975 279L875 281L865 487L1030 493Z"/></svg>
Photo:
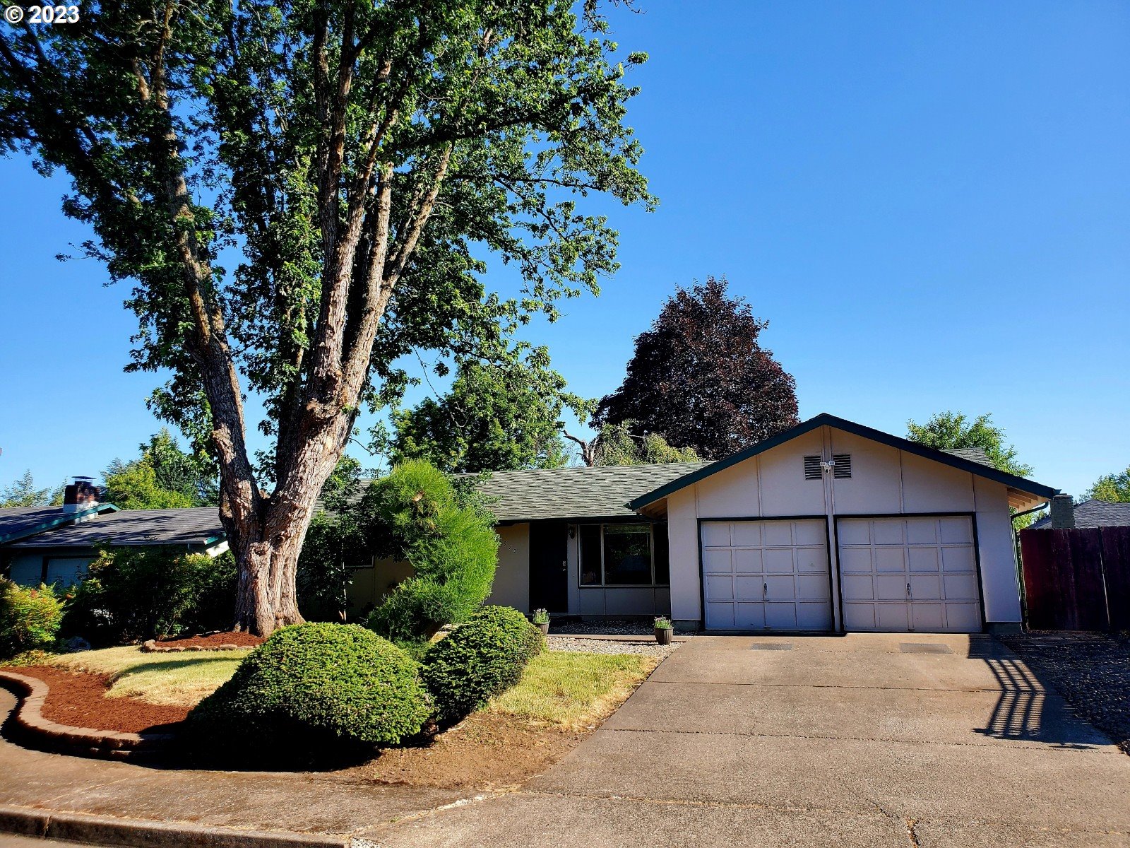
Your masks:
<svg viewBox="0 0 1130 848"><path fill-rule="evenodd" d="M47 684L43 717L71 727L121 733L172 733L189 715L186 707L158 707L133 698L106 698L110 680L102 674L63 672L49 666L6 670L38 677Z"/></svg>

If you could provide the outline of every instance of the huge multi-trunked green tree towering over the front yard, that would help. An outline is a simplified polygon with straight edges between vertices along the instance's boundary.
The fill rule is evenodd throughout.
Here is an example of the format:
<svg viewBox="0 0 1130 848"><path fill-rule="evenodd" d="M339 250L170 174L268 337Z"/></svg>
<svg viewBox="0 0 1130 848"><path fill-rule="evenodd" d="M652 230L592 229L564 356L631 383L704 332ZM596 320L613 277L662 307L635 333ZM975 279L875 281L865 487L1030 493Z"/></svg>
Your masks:
<svg viewBox="0 0 1130 848"><path fill-rule="evenodd" d="M0 145L72 182L84 252L129 279L132 367L211 450L236 626L302 621L295 568L359 409L406 354L505 360L506 331L596 289L650 205L634 89L596 0L122 0L0 28ZM632 54L629 62L644 57ZM485 292L488 254L524 278ZM271 447L249 451L245 393Z"/></svg>

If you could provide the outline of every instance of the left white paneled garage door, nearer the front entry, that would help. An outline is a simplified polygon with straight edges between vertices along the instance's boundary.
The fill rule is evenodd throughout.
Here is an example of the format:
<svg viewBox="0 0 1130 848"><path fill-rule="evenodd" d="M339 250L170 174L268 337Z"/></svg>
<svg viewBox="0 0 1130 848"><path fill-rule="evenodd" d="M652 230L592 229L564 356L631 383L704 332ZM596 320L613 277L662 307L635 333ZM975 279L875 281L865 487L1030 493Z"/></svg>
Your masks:
<svg viewBox="0 0 1130 848"><path fill-rule="evenodd" d="M710 630L832 630L823 520L704 521Z"/></svg>

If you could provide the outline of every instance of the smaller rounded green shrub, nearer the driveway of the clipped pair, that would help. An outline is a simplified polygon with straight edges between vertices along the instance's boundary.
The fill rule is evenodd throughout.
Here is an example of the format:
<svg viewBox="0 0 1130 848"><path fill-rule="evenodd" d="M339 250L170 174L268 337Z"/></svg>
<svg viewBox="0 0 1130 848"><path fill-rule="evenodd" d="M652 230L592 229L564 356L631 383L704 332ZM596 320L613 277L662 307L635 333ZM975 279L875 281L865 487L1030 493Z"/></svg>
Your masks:
<svg viewBox="0 0 1130 848"><path fill-rule="evenodd" d="M516 609L483 607L424 656L421 676L436 718L458 721L513 686L542 648L541 631Z"/></svg>

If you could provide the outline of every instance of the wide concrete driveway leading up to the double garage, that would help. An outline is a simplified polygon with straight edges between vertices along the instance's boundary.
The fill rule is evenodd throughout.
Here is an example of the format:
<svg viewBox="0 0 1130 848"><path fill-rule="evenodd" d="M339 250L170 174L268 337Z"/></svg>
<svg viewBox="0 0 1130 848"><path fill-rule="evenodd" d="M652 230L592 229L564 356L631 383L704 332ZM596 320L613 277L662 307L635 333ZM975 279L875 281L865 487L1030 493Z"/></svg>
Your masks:
<svg viewBox="0 0 1130 848"><path fill-rule="evenodd" d="M1130 846L1130 756L986 637L698 637L524 790L372 838Z"/></svg>

